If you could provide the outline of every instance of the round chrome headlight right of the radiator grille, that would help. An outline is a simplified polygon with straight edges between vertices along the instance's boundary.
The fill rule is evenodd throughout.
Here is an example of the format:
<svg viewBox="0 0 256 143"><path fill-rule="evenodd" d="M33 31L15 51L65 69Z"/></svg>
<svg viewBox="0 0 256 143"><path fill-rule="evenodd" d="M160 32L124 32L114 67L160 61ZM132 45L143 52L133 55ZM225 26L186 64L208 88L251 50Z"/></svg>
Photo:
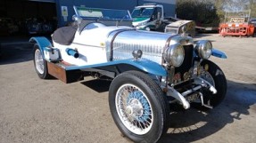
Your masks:
<svg viewBox="0 0 256 143"><path fill-rule="evenodd" d="M195 45L195 52L200 58L204 60L207 60L210 58L211 51L212 51L212 44L208 40L198 41Z"/></svg>

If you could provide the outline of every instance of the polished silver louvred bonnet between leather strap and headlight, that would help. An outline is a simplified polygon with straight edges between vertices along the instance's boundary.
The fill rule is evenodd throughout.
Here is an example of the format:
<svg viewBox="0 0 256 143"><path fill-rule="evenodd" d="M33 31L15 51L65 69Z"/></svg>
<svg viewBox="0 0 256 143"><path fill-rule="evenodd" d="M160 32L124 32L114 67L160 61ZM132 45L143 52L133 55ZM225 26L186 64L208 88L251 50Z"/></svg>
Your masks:
<svg viewBox="0 0 256 143"><path fill-rule="evenodd" d="M142 58L162 62L162 53L172 35L142 30L120 32L112 41L112 60L133 58L132 52L141 50Z"/></svg>

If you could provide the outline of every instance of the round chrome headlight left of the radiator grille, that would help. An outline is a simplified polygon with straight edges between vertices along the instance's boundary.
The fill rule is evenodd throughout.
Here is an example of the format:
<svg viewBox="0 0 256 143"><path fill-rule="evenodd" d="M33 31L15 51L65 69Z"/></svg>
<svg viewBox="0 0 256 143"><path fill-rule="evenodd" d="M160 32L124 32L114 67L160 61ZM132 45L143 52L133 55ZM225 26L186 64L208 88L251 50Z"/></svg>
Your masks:
<svg viewBox="0 0 256 143"><path fill-rule="evenodd" d="M170 66L179 67L183 63L184 55L185 52L181 44L172 44L163 52L163 59Z"/></svg>

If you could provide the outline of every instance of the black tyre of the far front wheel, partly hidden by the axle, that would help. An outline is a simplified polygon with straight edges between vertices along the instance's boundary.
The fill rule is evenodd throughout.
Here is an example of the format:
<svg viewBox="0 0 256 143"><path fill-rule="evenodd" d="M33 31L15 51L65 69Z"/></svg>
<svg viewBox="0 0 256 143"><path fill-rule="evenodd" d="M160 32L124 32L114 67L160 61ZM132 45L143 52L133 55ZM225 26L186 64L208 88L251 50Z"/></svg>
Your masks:
<svg viewBox="0 0 256 143"><path fill-rule="evenodd" d="M217 90L217 93L212 94L211 91L204 91L203 102L204 104L210 103L211 107L217 107L222 102L222 100L225 99L227 92L227 80L223 71L215 63L210 60L203 60L201 65L202 67L205 67L206 64L209 67L208 73L211 75L214 81L214 86ZM209 108L201 107L201 109L205 110Z"/></svg>

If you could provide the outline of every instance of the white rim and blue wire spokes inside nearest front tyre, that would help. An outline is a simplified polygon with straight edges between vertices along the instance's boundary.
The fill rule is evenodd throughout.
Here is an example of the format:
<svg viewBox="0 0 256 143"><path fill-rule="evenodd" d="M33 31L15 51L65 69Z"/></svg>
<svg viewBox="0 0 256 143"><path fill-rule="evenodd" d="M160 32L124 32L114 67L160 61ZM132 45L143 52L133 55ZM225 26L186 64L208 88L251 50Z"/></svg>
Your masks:
<svg viewBox="0 0 256 143"><path fill-rule="evenodd" d="M117 91L116 96L118 115L128 130L138 135L150 131L153 112L145 93L133 84L124 84Z"/></svg>

